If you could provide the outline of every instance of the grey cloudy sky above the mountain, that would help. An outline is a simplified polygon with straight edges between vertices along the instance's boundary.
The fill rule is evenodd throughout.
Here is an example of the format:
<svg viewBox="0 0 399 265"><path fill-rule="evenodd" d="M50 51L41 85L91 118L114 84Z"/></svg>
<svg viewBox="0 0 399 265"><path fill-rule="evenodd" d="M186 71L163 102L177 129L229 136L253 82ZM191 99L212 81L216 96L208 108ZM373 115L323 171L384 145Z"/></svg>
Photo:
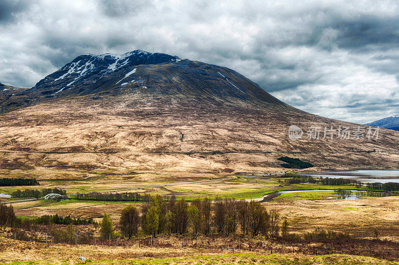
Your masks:
<svg viewBox="0 0 399 265"><path fill-rule="evenodd" d="M304 111L399 114L398 1L0 0L0 82L32 87L85 53L229 67Z"/></svg>

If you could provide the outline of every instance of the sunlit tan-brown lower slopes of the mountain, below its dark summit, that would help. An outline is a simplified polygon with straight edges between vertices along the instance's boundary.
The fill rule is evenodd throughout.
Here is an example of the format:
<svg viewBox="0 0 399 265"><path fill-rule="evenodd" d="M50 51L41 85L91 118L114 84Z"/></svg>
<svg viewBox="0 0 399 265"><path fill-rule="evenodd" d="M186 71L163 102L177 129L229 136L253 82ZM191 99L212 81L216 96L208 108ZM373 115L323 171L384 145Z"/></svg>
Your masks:
<svg viewBox="0 0 399 265"><path fill-rule="evenodd" d="M378 141L293 142L287 138L292 124L305 131L309 126L357 125L273 105L142 100L132 95L98 101L79 97L2 115L0 173L74 179L131 171L176 176L223 174L225 168L274 172L281 170L276 158L284 154L321 167L399 161L399 133L392 130L381 129Z"/></svg>

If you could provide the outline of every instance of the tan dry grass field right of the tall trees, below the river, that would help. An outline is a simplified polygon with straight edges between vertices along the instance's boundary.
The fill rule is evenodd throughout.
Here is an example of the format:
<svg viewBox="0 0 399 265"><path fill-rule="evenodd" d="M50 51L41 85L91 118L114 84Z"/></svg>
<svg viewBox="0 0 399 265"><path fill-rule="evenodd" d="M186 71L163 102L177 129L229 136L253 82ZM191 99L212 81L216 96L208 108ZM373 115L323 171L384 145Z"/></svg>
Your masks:
<svg viewBox="0 0 399 265"><path fill-rule="evenodd" d="M399 197L357 200L286 199L263 203L266 208L277 208L286 216L297 233L313 230L316 226L356 235L370 235L375 230L399 239Z"/></svg>

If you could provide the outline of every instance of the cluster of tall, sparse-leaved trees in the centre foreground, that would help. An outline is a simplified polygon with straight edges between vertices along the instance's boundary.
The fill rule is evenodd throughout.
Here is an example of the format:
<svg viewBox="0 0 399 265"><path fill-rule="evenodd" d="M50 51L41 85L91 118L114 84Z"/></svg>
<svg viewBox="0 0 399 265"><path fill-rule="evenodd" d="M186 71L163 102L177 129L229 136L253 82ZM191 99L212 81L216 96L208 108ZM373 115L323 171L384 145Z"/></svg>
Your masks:
<svg viewBox="0 0 399 265"><path fill-rule="evenodd" d="M109 224L109 216L104 216L106 219L101 227L102 231L106 231L104 237L108 237L112 225ZM212 203L205 198L202 201L195 200L189 205L183 198L176 200L172 196L166 201L162 196L156 195L144 205L141 215L133 205L124 208L119 225L121 232L129 238L137 234L139 227L145 235L154 236L162 233L182 235L189 231L193 238L199 233L229 235L240 228L240 232L245 235L277 237L280 222L280 215L276 210L267 211L256 201L216 198ZM283 230L284 237L292 236L288 233L286 220L282 232Z"/></svg>

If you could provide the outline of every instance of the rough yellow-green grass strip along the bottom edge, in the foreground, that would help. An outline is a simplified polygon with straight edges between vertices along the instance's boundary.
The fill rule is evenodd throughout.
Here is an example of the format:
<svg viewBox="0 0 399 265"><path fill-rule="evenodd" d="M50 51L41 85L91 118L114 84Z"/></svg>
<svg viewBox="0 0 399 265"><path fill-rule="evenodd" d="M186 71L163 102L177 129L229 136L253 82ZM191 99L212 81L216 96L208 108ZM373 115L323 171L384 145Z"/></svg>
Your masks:
<svg viewBox="0 0 399 265"><path fill-rule="evenodd" d="M176 240L176 239L172 239ZM288 253L291 247L286 248L285 254L270 254L270 251L260 248L257 250L222 251L220 248L199 250L192 247L159 246L104 246L104 245L65 245L43 244L36 242L14 241L0 237L0 263L7 264L82 264L77 258L86 258L84 264L133 264L133 265L239 265L239 264L297 264L297 265L360 265L360 264L388 264L397 262L357 256L357 255L310 255L301 253L295 247L295 253ZM164 245L165 246L165 245ZM277 247L277 246L274 246ZM281 247L281 245L280 245ZM321 245L323 248L323 246ZM276 249L277 250L277 249ZM374 254L373 254L374 255Z"/></svg>

